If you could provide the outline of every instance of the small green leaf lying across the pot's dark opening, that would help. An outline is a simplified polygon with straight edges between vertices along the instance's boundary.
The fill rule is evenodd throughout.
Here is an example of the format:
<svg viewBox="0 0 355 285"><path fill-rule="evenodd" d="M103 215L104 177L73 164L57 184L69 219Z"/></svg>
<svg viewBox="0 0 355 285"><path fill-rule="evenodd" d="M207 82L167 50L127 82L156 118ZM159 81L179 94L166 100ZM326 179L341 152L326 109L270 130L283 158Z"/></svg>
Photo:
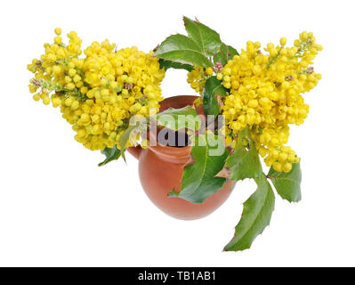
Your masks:
<svg viewBox="0 0 355 285"><path fill-rule="evenodd" d="M169 108L158 113L157 124L175 131L184 127L196 130L201 126L201 119L198 117L195 109L191 106L186 106L181 109Z"/></svg>

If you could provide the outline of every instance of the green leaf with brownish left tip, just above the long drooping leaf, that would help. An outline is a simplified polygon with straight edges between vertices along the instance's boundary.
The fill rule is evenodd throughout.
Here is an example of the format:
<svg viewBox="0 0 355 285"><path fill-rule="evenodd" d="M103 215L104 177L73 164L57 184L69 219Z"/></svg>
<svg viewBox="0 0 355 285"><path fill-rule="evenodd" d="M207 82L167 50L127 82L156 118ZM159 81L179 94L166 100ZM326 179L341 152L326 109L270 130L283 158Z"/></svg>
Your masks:
<svg viewBox="0 0 355 285"><path fill-rule="evenodd" d="M248 146L245 145L245 142ZM258 151L247 128L238 134L235 151L226 160L225 167L230 171L230 179L235 181L263 175Z"/></svg>

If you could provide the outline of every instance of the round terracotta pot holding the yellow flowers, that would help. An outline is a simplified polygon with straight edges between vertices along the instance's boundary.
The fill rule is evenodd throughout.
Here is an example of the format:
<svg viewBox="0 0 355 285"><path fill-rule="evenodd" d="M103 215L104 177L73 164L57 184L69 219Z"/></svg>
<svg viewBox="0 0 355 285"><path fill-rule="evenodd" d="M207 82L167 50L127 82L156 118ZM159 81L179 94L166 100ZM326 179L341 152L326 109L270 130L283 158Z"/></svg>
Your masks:
<svg viewBox="0 0 355 285"><path fill-rule="evenodd" d="M159 111L169 107L182 108L192 105L197 96L174 96L161 102ZM203 109L198 109L203 115ZM167 194L175 189L181 191L182 172L190 158L190 146L169 147L159 144L141 149L140 146L128 151L139 159L141 185L149 199L165 214L175 218L192 220L207 216L219 208L228 199L235 183L227 181L222 189L211 195L201 204L192 204L180 198L168 198Z"/></svg>

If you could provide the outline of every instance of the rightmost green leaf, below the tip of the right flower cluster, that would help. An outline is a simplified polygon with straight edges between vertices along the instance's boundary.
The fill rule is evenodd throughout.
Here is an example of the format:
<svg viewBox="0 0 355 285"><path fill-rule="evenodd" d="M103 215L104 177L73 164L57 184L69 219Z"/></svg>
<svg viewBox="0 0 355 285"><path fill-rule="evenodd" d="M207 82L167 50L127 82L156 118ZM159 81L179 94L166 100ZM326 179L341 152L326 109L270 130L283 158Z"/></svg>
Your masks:
<svg viewBox="0 0 355 285"><path fill-rule="evenodd" d="M301 200L302 173L300 163L294 163L292 170L288 173L278 172L273 167L270 167L268 178L270 178L282 199L286 199L289 202Z"/></svg>

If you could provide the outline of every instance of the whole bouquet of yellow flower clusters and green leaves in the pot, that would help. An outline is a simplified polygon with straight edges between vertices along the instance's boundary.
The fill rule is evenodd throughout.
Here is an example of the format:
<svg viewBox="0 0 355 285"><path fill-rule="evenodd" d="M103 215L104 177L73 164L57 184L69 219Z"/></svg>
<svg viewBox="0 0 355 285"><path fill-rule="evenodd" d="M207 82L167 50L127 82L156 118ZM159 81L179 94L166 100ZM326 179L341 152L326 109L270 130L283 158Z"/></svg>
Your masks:
<svg viewBox="0 0 355 285"><path fill-rule="evenodd" d="M44 44L45 53L28 65L35 74L29 91L34 100L61 108L77 142L106 156L100 165L125 159L125 150L136 157L137 150L157 154L155 148L165 138L157 134L163 129L164 134L185 134L183 145L164 144L190 153L177 174L177 186L164 186L164 199L203 206L227 182L254 179L257 189L225 247L243 250L270 224L275 203L271 183L283 199L301 199L300 158L286 144L290 125L303 124L309 113L303 94L321 78L312 64L322 46L312 33L302 32L289 47L281 37L278 45L263 49L248 41L238 52L198 20L183 21L188 36L167 37L149 53L135 46L117 49L105 40L88 46L84 57L77 33L68 34L66 45L56 28L54 42ZM181 106L181 100L179 108L165 108L159 85L167 69L188 71L187 81L199 94L193 103ZM157 134L147 135L154 127ZM162 165L170 169L175 162L166 153ZM267 174L260 157L270 167Z"/></svg>

